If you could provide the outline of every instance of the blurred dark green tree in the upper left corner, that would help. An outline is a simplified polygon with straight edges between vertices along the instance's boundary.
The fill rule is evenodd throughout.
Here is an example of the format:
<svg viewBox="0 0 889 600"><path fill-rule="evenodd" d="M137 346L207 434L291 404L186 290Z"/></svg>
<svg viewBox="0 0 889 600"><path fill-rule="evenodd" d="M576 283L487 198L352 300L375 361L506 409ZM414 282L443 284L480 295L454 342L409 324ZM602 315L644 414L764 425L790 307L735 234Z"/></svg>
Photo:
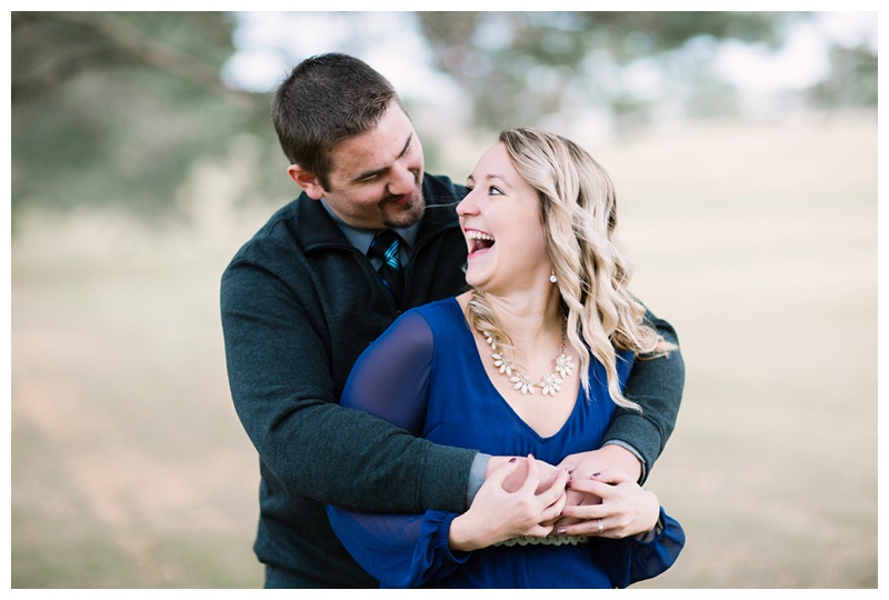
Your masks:
<svg viewBox="0 0 889 600"><path fill-rule="evenodd" d="M198 160L267 127L268 98L221 83L233 28L218 12L13 12L13 218L174 207Z"/></svg>

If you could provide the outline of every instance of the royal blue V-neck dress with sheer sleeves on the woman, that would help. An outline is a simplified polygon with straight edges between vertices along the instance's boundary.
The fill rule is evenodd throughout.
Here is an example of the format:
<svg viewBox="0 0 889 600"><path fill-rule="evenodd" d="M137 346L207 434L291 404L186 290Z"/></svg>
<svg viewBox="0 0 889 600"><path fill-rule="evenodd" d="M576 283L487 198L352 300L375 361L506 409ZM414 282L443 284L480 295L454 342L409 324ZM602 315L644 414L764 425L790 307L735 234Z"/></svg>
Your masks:
<svg viewBox="0 0 889 600"><path fill-rule="evenodd" d="M622 386L632 353L619 357ZM530 453L558 464L601 446L615 403L599 362L590 366L590 400L581 389L562 428L542 438L500 396L481 360L457 300L432 302L402 314L364 351L341 403L417 437L489 454ZM448 547L456 513L379 514L328 507L328 514L352 557L387 588L625 588L667 570L685 544L682 528L662 510L662 531L646 542L590 538L473 552Z"/></svg>

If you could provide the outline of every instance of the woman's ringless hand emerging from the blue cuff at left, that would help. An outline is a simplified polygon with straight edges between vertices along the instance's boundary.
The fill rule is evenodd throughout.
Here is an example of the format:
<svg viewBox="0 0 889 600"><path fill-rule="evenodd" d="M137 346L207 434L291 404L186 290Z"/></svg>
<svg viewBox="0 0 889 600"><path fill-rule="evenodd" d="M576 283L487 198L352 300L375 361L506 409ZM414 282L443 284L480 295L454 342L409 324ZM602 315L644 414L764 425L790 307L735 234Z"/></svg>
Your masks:
<svg viewBox="0 0 889 600"><path fill-rule="evenodd" d="M562 470L551 486L536 493L540 468L533 457L527 459L527 477L516 491L505 482L520 469L519 460L496 468L476 494L472 504L451 522L448 543L453 550L477 550L519 536L546 537L565 507L568 471Z"/></svg>

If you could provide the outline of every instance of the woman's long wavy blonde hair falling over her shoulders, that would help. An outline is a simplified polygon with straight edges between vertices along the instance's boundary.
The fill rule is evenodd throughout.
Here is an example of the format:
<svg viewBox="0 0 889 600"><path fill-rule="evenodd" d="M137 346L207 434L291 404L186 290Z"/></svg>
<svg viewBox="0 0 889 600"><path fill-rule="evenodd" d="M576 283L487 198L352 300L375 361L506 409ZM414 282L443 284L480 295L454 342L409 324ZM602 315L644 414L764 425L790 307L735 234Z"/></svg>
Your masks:
<svg viewBox="0 0 889 600"><path fill-rule="evenodd" d="M616 236L615 188L602 167L582 148L533 128L500 133L512 166L540 197L549 257L558 278L568 341L580 357L580 377L589 398L589 363L605 366L611 399L641 410L620 390L615 349L637 357L667 354L673 346L645 322L645 307L630 294L630 264ZM488 304L473 290L471 324L511 343ZM587 342L586 344L583 342ZM587 349L589 344L589 350Z"/></svg>

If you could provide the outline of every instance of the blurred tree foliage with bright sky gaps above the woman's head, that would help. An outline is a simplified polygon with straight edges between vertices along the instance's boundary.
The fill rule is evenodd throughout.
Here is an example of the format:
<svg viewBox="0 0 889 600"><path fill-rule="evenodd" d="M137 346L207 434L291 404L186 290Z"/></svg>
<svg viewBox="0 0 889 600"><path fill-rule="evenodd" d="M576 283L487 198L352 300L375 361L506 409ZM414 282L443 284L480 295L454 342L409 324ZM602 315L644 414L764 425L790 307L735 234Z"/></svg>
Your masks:
<svg viewBox="0 0 889 600"><path fill-rule="evenodd" d="M712 114L721 106L731 111L736 106L731 90L709 72L716 42L738 39L777 48L785 24L800 17L680 11L418 13L436 66L476 99L475 121L490 129L591 107L629 128L648 122L668 92L687 97L686 109ZM628 77L625 68L643 63L651 67L660 92L639 89Z"/></svg>

